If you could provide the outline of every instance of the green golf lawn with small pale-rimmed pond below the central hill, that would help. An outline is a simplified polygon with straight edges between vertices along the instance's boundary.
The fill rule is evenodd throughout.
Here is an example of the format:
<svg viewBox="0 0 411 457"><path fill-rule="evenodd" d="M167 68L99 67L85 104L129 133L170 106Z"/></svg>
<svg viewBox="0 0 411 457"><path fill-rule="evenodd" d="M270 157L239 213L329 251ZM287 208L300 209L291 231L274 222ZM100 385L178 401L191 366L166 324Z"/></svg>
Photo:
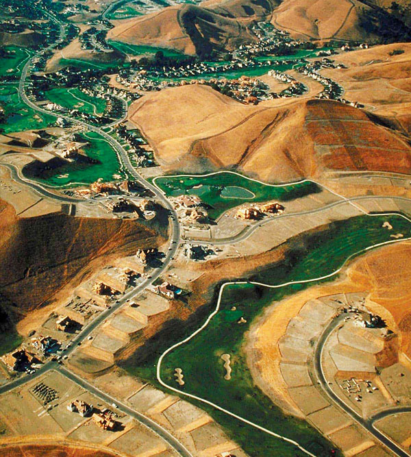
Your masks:
<svg viewBox="0 0 411 457"><path fill-rule="evenodd" d="M210 205L208 214L212 219L216 219L223 212L242 203L256 203L273 199L286 201L320 190L312 182L269 186L227 171L210 176L161 176L155 178L153 183L160 187L168 197L183 194L198 195L204 203Z"/></svg>

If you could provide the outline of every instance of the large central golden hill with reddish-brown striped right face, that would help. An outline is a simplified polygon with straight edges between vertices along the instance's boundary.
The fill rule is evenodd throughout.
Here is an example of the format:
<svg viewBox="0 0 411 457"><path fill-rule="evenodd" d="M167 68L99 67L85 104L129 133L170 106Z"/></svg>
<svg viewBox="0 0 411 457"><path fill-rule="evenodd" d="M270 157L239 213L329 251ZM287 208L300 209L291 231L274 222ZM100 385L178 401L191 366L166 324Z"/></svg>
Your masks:
<svg viewBox="0 0 411 457"><path fill-rule="evenodd" d="M130 119L169 171L234 168L271 182L336 170L410 173L407 138L376 116L336 101L278 103L250 107L183 86L143 97Z"/></svg>

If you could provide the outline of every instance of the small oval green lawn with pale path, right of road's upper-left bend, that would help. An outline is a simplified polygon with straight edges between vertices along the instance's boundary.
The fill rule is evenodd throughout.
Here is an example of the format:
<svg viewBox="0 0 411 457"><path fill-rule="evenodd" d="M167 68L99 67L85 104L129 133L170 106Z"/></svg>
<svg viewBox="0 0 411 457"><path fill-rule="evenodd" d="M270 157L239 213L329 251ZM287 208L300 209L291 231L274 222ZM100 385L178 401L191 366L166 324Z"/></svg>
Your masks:
<svg viewBox="0 0 411 457"><path fill-rule="evenodd" d="M75 108L88 114L102 114L106 101L97 97L90 97L77 88L54 88L47 90L46 97L53 103L65 108Z"/></svg>

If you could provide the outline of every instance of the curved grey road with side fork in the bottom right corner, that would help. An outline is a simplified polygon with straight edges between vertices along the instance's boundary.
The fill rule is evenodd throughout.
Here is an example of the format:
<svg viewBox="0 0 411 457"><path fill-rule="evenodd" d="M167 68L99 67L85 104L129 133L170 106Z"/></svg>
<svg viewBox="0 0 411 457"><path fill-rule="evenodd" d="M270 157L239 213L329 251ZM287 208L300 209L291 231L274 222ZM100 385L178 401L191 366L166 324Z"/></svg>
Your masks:
<svg viewBox="0 0 411 457"><path fill-rule="evenodd" d="M399 457L410 457L411 454L405 452L401 447L395 444L393 441L388 439L387 436L379 432L374 426L373 423L379 419L383 419L384 417L388 417L390 415L396 414L398 412L411 412L411 407L397 407L397 408L390 408L385 411L379 412L377 415L369 417L368 419L364 419L356 410L353 410L349 405L343 402L338 395L332 391L332 388L329 387L327 380L325 379L325 375L323 372L322 367L322 354L323 354L323 347L332 332L338 328L338 325L342 325L345 314L341 314L338 318L333 319L331 323L329 323L328 327L325 329L319 341L316 344L314 349L314 371L316 377L318 378L321 388L327 394L327 396L332 399L332 402L336 404L339 408L344 410L347 415L349 415L354 421L360 423L362 427L364 427L368 432L370 432L375 438L381 441L386 447L388 447L391 451L393 451Z"/></svg>

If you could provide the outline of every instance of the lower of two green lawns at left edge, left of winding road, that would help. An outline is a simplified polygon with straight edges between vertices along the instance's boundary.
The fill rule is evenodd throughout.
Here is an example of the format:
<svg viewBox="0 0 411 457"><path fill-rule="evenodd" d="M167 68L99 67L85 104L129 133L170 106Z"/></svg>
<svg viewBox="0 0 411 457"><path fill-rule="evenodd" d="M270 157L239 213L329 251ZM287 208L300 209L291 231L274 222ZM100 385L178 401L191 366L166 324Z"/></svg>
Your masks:
<svg viewBox="0 0 411 457"><path fill-rule="evenodd" d="M0 129L6 134L42 129L55 122L54 116L38 113L23 103L16 86L0 86L0 104L5 110L5 121L0 122Z"/></svg>

